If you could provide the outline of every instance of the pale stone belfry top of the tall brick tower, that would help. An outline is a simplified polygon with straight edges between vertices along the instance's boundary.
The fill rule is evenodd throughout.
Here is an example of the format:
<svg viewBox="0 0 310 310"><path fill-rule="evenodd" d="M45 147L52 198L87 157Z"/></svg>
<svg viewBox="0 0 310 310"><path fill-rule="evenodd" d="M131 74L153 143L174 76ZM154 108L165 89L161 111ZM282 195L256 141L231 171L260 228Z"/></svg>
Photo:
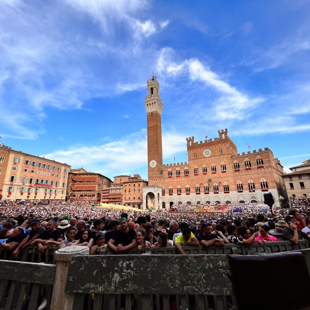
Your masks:
<svg viewBox="0 0 310 310"><path fill-rule="evenodd" d="M148 79L147 82L148 95L145 96L144 106L147 113L158 112L162 114L162 99L159 97L159 83L157 81L156 75Z"/></svg>

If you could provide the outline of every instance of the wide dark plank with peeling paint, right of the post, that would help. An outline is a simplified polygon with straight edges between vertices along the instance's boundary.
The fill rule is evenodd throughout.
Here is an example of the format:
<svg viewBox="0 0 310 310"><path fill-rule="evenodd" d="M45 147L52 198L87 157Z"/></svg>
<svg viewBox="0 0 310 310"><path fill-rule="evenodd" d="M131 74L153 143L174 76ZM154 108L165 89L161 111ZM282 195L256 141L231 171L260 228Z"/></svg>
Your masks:
<svg viewBox="0 0 310 310"><path fill-rule="evenodd" d="M145 270L148 270L147 277ZM203 276L197 277L197 272ZM231 295L228 272L226 255L80 255L71 261L65 291ZM166 276L158 277L158 274ZM151 286L149 279L154 279Z"/></svg>

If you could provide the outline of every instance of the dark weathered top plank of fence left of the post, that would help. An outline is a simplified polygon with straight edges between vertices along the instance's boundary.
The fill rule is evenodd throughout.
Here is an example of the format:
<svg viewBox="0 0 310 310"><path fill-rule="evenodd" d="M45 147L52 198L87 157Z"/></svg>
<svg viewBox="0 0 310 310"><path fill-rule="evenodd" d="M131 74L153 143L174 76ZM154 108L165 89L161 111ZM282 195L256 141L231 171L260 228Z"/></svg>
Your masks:
<svg viewBox="0 0 310 310"><path fill-rule="evenodd" d="M53 284L56 265L0 260L0 278L28 283Z"/></svg>

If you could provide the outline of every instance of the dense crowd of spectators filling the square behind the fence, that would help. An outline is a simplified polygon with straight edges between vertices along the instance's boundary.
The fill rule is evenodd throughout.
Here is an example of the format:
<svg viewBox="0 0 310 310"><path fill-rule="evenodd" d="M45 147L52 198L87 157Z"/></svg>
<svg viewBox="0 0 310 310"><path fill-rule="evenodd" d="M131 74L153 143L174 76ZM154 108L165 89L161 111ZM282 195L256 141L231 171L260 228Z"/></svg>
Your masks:
<svg viewBox="0 0 310 310"><path fill-rule="evenodd" d="M1 250L19 257L32 245L40 252L50 246L107 246L115 253L134 247L224 246L227 243L298 243L310 238L310 209L281 209L254 203L181 205L177 211L134 212L104 209L87 202L0 201ZM182 209L184 208L184 209ZM192 209L187 209L192 208ZM187 210L181 211L181 210ZM195 210L195 211L193 211ZM200 211L200 212L197 212Z"/></svg>

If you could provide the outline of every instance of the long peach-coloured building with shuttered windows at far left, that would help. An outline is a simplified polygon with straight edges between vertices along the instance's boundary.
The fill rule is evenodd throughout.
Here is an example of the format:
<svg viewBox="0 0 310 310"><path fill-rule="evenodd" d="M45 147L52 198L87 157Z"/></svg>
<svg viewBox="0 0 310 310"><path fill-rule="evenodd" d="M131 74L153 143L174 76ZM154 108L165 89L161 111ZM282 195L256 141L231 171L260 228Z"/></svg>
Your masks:
<svg viewBox="0 0 310 310"><path fill-rule="evenodd" d="M65 200L70 166L0 145L0 199Z"/></svg>

